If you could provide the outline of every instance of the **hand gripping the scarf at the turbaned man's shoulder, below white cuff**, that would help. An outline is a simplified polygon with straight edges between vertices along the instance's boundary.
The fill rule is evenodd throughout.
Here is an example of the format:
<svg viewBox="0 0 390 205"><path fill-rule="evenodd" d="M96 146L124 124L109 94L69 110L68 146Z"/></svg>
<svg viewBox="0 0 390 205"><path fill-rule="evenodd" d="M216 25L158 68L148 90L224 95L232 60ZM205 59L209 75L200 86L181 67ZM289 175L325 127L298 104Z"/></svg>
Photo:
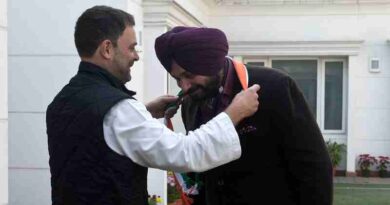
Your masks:
<svg viewBox="0 0 390 205"><path fill-rule="evenodd" d="M257 92L260 86L252 85L245 91L239 92L225 112L229 115L234 125L237 125L246 117L252 116L259 107L259 95Z"/></svg>

